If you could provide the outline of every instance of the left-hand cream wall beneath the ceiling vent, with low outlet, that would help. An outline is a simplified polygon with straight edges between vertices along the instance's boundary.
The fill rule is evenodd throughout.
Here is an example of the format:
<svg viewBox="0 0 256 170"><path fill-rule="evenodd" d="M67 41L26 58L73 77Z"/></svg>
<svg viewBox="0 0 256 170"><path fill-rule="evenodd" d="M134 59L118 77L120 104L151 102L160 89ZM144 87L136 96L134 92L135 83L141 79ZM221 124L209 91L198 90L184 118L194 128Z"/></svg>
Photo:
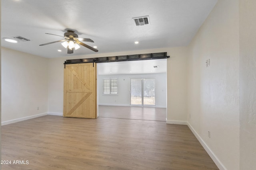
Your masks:
<svg viewBox="0 0 256 170"><path fill-rule="evenodd" d="M1 78L2 124L47 113L48 59L2 47Z"/></svg>

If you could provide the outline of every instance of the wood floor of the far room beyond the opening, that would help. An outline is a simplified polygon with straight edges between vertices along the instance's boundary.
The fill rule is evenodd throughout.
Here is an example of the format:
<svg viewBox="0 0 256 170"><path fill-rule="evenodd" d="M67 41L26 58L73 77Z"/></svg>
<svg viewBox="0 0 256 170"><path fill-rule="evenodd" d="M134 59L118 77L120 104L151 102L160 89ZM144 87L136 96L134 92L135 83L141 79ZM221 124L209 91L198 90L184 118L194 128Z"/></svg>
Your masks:
<svg viewBox="0 0 256 170"><path fill-rule="evenodd" d="M166 121L166 108L99 106L99 117Z"/></svg>

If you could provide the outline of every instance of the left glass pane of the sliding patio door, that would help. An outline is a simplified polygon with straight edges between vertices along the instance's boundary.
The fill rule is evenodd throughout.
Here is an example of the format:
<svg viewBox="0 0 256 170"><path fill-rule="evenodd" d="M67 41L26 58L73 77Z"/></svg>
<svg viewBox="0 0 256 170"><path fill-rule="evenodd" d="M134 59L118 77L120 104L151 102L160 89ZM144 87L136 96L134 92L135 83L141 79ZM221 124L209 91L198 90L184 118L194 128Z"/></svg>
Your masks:
<svg viewBox="0 0 256 170"><path fill-rule="evenodd" d="M142 106L142 79L131 78L131 105Z"/></svg>

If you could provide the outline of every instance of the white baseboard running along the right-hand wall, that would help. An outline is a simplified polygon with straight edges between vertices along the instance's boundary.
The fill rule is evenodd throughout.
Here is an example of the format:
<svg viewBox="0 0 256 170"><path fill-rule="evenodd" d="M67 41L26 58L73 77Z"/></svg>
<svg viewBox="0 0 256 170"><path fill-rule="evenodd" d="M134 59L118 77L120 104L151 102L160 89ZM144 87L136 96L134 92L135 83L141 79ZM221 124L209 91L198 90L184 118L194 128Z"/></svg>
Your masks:
<svg viewBox="0 0 256 170"><path fill-rule="evenodd" d="M220 162L218 157L212 152L212 150L208 147L208 145L204 142L204 140L200 137L200 135L195 131L195 129L187 122L187 125L189 129L192 131L192 133L196 136L196 139L201 143L201 145L204 147L204 150L209 154L209 156L212 158L213 162L218 166L220 170L227 170L225 166Z"/></svg>

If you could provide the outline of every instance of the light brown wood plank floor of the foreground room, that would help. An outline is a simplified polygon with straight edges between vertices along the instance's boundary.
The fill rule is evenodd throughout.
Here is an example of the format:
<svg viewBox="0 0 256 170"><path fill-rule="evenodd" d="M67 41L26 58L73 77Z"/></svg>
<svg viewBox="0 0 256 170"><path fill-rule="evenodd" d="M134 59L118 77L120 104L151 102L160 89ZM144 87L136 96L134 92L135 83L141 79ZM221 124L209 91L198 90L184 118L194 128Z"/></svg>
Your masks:
<svg viewBox="0 0 256 170"><path fill-rule="evenodd" d="M2 126L2 170L217 170L186 125L46 115ZM26 164L28 161L28 164Z"/></svg>

